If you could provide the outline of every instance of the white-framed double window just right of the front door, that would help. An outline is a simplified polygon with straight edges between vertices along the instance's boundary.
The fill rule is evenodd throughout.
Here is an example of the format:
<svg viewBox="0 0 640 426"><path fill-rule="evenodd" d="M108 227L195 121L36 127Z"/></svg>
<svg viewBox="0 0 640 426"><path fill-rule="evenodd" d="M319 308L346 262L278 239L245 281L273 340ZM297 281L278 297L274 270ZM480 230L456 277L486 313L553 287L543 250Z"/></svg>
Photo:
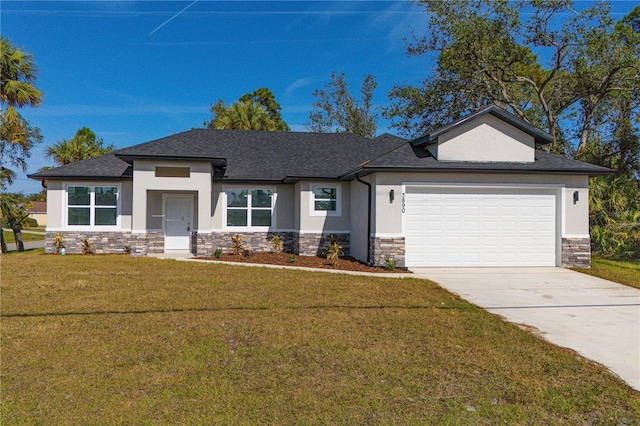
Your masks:
<svg viewBox="0 0 640 426"><path fill-rule="evenodd" d="M271 226L273 191L269 189L228 189L227 226Z"/></svg>

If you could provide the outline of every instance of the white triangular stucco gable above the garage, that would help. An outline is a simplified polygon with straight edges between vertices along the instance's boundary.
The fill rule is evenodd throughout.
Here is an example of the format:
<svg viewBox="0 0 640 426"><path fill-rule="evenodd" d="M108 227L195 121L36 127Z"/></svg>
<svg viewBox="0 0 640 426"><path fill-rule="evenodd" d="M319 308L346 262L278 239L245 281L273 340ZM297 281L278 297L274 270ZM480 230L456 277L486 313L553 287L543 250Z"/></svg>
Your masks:
<svg viewBox="0 0 640 426"><path fill-rule="evenodd" d="M535 160L533 136L490 114L440 135L429 150L438 161Z"/></svg>

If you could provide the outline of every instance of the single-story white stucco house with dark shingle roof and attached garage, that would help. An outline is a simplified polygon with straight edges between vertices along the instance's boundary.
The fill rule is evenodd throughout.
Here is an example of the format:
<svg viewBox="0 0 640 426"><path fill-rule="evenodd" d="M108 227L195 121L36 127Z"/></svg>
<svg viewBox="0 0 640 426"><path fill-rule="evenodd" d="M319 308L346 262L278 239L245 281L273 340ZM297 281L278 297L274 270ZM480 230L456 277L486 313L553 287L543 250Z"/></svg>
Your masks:
<svg viewBox="0 0 640 426"><path fill-rule="evenodd" d="M46 251L346 254L399 267L588 266L589 176L549 134L488 107L414 140L193 129L35 173Z"/></svg>

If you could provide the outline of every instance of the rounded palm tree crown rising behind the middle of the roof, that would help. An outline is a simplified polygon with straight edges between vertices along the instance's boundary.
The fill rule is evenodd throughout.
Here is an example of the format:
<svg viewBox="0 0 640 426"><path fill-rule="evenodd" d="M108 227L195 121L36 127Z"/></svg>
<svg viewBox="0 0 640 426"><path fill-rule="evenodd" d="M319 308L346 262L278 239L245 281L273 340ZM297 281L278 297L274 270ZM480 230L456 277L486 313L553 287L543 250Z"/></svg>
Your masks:
<svg viewBox="0 0 640 426"><path fill-rule="evenodd" d="M264 106L253 100L238 101L211 121L212 129L281 130Z"/></svg>

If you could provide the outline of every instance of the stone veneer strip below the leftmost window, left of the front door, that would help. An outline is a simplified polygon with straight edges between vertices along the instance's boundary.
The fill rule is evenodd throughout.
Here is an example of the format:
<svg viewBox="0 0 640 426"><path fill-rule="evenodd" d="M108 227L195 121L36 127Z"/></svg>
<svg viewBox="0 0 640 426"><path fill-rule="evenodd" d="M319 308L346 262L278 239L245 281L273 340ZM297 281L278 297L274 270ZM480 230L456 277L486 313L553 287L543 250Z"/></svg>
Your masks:
<svg viewBox="0 0 640 426"><path fill-rule="evenodd" d="M95 231L47 231L44 237L45 253L55 253L54 240L57 234L64 238L64 248L69 254L82 254L82 240L87 238L96 254L126 254L146 256L149 253L164 253L164 232L95 232Z"/></svg>

